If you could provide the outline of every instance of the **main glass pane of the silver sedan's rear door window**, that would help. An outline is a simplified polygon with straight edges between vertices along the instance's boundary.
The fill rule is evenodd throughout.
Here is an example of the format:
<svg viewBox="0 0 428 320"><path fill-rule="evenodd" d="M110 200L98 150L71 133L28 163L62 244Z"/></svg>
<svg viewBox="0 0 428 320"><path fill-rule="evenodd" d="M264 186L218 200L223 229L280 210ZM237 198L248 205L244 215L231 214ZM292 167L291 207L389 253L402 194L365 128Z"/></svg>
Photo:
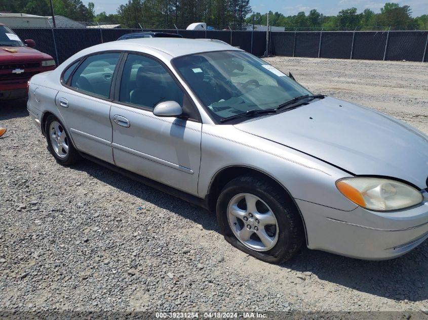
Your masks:
<svg viewBox="0 0 428 320"><path fill-rule="evenodd" d="M74 72L71 87L80 92L108 98L114 69L120 55L104 53L87 57Z"/></svg>

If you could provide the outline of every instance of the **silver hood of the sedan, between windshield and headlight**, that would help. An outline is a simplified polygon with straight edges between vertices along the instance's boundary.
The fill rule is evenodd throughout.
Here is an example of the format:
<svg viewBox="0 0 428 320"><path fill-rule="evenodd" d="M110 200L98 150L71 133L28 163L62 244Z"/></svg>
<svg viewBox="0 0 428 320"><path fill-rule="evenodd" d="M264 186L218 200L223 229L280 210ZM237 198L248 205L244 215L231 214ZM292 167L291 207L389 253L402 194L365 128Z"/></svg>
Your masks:
<svg viewBox="0 0 428 320"><path fill-rule="evenodd" d="M235 127L355 175L395 177L426 188L428 136L366 107L326 97Z"/></svg>

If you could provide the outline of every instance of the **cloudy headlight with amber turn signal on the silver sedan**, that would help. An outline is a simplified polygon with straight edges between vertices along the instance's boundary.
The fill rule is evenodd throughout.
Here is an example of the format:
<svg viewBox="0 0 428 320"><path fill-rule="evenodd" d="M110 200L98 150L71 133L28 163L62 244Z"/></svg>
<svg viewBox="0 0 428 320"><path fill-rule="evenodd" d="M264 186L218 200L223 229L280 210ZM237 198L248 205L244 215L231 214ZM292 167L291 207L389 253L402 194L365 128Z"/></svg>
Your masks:
<svg viewBox="0 0 428 320"><path fill-rule="evenodd" d="M336 181L336 187L346 198L369 210L399 210L423 201L418 190L389 179L344 178Z"/></svg>

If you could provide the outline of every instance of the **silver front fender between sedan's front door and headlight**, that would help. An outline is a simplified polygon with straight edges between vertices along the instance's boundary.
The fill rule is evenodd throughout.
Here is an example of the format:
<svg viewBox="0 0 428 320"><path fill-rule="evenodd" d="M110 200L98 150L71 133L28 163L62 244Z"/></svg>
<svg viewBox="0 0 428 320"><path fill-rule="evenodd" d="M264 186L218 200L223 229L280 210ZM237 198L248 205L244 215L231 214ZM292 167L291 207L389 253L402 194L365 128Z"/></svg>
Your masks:
<svg viewBox="0 0 428 320"><path fill-rule="evenodd" d="M335 185L337 179L350 176L349 173L232 125L204 124L199 195L207 195L215 175L230 166L253 168L273 177L294 199L344 211L357 207Z"/></svg>

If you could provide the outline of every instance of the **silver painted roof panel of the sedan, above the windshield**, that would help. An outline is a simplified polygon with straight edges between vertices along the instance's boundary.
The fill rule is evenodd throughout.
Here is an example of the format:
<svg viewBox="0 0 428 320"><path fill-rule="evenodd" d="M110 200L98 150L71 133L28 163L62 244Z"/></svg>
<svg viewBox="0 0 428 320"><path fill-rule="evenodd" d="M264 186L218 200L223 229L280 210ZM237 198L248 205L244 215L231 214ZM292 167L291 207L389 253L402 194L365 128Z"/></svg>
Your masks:
<svg viewBox="0 0 428 320"><path fill-rule="evenodd" d="M225 50L242 51L227 43L186 38L134 38L98 44L96 45L96 49L101 51L118 50L118 48L120 48L126 51L135 50L135 47L138 46L162 51L173 58L201 52Z"/></svg>

